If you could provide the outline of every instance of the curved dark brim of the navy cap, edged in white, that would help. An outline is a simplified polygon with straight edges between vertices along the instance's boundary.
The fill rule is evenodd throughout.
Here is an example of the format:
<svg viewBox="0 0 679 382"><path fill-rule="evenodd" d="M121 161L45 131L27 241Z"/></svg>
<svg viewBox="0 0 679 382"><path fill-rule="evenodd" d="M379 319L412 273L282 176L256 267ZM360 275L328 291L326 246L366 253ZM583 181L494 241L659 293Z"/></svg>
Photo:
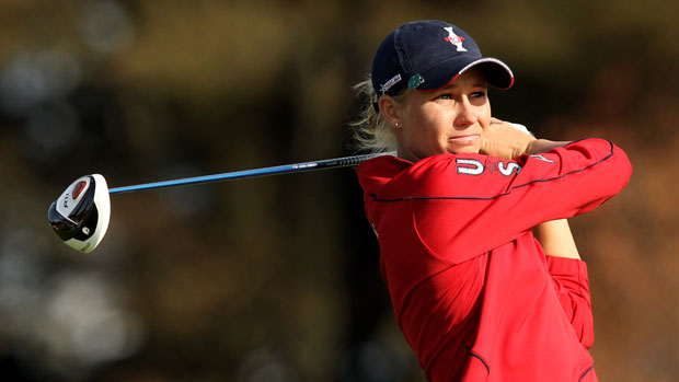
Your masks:
<svg viewBox="0 0 679 382"><path fill-rule="evenodd" d="M497 89L506 90L514 84L514 73L509 67L496 58L456 57L440 62L423 73L425 81L417 89L437 90L448 86L462 73L479 67L485 74L486 82ZM452 74L452 76L451 76Z"/></svg>

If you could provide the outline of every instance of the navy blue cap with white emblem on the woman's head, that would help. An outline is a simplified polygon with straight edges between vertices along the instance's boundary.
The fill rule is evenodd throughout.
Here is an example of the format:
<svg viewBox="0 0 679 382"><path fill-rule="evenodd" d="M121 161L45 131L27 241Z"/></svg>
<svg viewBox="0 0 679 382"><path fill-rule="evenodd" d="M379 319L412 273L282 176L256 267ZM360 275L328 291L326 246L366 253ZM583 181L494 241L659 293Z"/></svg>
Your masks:
<svg viewBox="0 0 679 382"><path fill-rule="evenodd" d="M405 86L437 90L476 66L490 85L511 88L509 67L483 57L467 32L441 21L413 21L396 27L380 45L372 62L372 88L378 100L384 94L393 96Z"/></svg>

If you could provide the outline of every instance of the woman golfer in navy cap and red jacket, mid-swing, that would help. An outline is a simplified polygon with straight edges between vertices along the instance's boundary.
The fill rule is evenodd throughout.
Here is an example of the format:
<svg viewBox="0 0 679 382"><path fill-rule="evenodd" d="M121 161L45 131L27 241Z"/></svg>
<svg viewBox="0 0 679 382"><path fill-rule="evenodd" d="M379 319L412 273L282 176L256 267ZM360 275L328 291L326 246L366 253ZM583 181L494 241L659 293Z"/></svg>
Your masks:
<svg viewBox="0 0 679 382"><path fill-rule="evenodd" d="M632 173L605 139L536 139L491 116L509 68L417 21L379 47L358 169L398 324L430 381L596 381L587 268L565 218Z"/></svg>

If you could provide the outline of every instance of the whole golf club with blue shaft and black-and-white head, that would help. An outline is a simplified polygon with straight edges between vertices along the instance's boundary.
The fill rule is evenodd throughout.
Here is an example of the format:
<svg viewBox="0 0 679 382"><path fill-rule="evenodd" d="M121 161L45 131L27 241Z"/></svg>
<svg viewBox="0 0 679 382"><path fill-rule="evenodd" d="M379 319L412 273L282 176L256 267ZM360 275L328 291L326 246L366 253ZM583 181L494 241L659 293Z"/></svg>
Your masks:
<svg viewBox="0 0 679 382"><path fill-rule="evenodd" d="M199 183L221 182L244 177L268 176L294 172L318 171L358 165L360 162L395 152L325 159L311 162L243 170L221 174L185 177L125 187L108 188L100 174L84 175L71 183L55 200L47 212L47 220L61 241L83 253L90 253L104 239L111 219L111 195L145 189L185 186Z"/></svg>

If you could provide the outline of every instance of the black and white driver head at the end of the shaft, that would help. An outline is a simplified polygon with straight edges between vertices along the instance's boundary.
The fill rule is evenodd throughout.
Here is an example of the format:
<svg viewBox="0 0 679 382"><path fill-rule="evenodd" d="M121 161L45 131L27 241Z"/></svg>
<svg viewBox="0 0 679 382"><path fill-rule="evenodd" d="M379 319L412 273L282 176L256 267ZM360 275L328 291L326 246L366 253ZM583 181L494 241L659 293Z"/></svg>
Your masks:
<svg viewBox="0 0 679 382"><path fill-rule="evenodd" d="M66 245L83 253L94 251L111 219L106 180L100 174L78 178L49 206L47 219Z"/></svg>

